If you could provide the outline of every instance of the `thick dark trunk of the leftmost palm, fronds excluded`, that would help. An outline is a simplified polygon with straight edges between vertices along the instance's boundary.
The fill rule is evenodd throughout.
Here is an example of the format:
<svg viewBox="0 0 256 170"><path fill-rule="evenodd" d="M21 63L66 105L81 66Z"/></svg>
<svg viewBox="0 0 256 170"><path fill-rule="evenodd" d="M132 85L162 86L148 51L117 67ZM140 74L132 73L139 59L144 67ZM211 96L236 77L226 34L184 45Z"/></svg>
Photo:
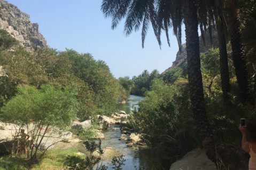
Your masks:
<svg viewBox="0 0 256 170"><path fill-rule="evenodd" d="M184 1L184 24L187 46L190 101L199 134L202 139L205 139L212 135L212 130L206 116L203 80L200 70L197 7L194 1Z"/></svg>

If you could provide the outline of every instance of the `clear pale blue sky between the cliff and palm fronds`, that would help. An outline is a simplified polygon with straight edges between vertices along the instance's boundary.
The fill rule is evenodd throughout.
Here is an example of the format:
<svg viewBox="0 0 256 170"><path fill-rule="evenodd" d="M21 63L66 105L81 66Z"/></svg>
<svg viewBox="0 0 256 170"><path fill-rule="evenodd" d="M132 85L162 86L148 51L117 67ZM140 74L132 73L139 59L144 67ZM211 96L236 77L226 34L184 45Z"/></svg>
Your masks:
<svg viewBox="0 0 256 170"><path fill-rule="evenodd" d="M111 18L100 10L102 0L7 0L22 12L29 14L32 23L47 44L58 51L65 48L79 53L90 53L95 60L103 60L115 78L138 76L144 70L159 73L172 66L179 50L172 29L169 31L170 47L165 33L161 49L150 27L142 48L141 28L128 37L123 33L124 22L111 29ZM182 43L185 43L184 26Z"/></svg>

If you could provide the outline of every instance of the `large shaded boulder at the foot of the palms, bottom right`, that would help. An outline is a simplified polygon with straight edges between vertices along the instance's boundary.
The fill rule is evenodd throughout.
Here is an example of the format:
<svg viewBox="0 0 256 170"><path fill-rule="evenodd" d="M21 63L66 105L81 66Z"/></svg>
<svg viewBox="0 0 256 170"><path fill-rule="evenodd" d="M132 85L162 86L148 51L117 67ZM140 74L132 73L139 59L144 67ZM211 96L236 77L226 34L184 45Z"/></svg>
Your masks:
<svg viewBox="0 0 256 170"><path fill-rule="evenodd" d="M182 159L176 161L170 166L170 170L182 170L182 169L193 169L193 170L216 170L216 166L208 159L206 153L200 148L188 152Z"/></svg>

